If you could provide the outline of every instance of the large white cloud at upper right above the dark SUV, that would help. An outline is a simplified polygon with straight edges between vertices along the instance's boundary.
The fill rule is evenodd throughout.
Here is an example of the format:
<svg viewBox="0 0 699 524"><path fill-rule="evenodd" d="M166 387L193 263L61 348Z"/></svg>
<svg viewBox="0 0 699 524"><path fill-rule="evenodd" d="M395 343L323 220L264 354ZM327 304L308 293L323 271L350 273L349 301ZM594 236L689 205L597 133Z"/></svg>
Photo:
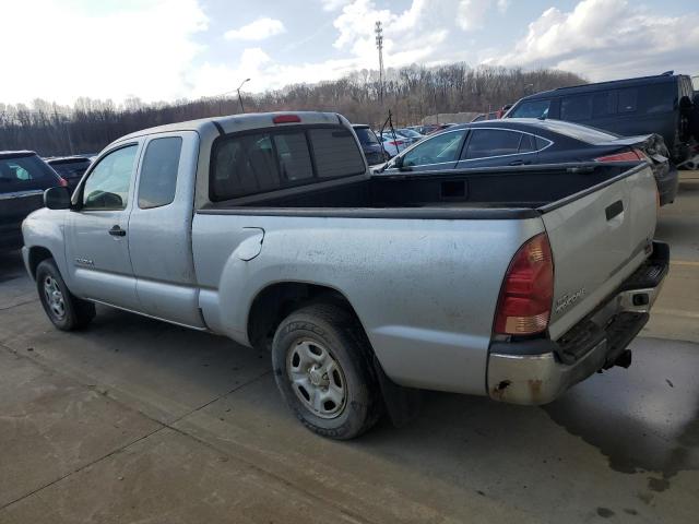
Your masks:
<svg viewBox="0 0 699 524"><path fill-rule="evenodd" d="M554 67L591 80L692 72L699 15L665 16L627 0L582 0L570 12L544 11L510 52L487 63Z"/></svg>

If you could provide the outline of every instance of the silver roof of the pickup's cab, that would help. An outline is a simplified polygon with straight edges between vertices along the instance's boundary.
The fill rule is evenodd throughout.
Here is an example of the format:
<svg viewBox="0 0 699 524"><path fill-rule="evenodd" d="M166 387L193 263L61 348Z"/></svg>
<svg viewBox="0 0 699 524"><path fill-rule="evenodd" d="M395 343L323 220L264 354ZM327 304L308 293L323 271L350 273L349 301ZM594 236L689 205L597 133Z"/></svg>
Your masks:
<svg viewBox="0 0 699 524"><path fill-rule="evenodd" d="M274 117L283 115L294 115L298 117L298 121L274 123ZM217 132L233 133L236 131L247 131L251 129L271 128L273 126L298 126L298 124L322 124L335 123L350 126L350 122L336 112L320 111L277 111L277 112L249 112L244 115L227 115L223 117L200 118L198 120L188 120L185 122L167 123L155 128L142 129L133 133L117 139L116 142L143 136L145 134L168 133L176 131L198 131L205 132L212 128Z"/></svg>

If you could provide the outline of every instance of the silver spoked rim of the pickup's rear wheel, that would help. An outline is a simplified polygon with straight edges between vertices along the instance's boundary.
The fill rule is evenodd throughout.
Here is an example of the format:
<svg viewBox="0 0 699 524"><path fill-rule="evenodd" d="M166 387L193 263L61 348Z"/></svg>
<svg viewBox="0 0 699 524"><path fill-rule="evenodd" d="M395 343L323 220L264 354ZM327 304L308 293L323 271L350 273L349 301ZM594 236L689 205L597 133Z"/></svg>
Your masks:
<svg viewBox="0 0 699 524"><path fill-rule="evenodd" d="M335 418L345 407L347 385L337 360L316 341L297 341L288 350L286 370L292 389L315 415Z"/></svg>

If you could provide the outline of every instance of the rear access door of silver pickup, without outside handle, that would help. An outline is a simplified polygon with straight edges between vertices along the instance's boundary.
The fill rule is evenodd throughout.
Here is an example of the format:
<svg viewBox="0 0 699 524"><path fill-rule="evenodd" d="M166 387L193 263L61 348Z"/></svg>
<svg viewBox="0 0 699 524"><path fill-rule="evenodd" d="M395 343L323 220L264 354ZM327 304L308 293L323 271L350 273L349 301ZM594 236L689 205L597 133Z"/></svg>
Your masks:
<svg viewBox="0 0 699 524"><path fill-rule="evenodd" d="M129 251L140 311L204 327L192 258L192 213L199 135L156 134L143 144Z"/></svg>

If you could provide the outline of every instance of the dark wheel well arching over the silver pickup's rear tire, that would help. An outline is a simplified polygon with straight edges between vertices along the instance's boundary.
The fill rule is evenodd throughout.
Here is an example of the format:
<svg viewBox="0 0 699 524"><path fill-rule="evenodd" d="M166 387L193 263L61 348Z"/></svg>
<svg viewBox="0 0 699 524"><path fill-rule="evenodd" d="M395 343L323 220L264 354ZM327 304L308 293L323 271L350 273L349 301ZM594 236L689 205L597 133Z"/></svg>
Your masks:
<svg viewBox="0 0 699 524"><path fill-rule="evenodd" d="M282 282L265 287L252 301L248 314L250 344L259 348L271 347L272 337L282 320L300 307L317 302L340 306L358 321L350 300L336 289L316 284Z"/></svg>

